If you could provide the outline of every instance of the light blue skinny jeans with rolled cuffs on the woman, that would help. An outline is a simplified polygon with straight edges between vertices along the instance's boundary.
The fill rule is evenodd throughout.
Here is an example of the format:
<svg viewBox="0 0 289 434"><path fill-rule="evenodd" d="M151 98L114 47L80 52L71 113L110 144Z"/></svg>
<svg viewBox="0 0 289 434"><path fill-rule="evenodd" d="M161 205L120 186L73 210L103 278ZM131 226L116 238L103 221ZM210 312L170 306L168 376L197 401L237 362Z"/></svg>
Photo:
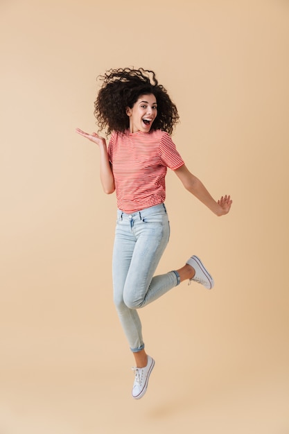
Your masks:
<svg viewBox="0 0 289 434"><path fill-rule="evenodd" d="M114 304L133 352L144 348L137 309L179 284L175 271L153 277L169 237L163 203L132 214L118 209L112 258Z"/></svg>

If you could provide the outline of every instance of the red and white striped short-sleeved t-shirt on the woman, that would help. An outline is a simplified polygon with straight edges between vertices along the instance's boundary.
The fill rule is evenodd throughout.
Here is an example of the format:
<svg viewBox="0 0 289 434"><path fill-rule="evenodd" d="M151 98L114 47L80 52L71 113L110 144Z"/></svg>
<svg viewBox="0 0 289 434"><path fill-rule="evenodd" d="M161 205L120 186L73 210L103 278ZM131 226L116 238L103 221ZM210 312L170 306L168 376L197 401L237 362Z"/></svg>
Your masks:
<svg viewBox="0 0 289 434"><path fill-rule="evenodd" d="M128 214L164 202L167 168L184 164L170 135L161 130L112 132L107 152L117 206Z"/></svg>

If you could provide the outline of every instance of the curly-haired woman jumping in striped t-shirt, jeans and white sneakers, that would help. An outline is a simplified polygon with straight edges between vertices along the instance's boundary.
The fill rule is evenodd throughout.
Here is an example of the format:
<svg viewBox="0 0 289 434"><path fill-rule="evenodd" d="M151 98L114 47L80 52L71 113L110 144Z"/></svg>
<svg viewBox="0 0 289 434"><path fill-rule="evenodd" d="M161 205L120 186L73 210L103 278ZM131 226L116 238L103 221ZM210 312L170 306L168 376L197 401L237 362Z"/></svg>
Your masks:
<svg viewBox="0 0 289 434"><path fill-rule="evenodd" d="M184 164L170 138L179 120L177 107L155 73L145 69L110 69L94 103L103 137L76 130L100 150L100 180L105 193L116 191L117 223L113 252L114 304L134 354L132 397L146 393L155 361L146 354L137 309L189 279L213 288L213 278L193 255L182 268L154 276L170 234L165 177L172 169L184 187L216 216L229 212L230 196L214 200Z"/></svg>

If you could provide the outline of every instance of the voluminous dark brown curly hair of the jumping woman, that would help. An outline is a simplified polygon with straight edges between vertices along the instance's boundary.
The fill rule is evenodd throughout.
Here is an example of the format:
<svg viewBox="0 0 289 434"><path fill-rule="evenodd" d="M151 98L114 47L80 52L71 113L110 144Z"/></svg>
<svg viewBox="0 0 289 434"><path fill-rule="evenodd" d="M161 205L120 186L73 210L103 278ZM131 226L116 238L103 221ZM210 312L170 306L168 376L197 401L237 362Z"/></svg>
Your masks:
<svg viewBox="0 0 289 434"><path fill-rule="evenodd" d="M98 80L103 81L96 101L94 116L99 131L125 132L130 126L126 109L132 108L139 96L153 94L157 99L157 117L152 130L163 130L172 134L179 121L177 107L170 100L164 86L159 85L154 71L149 69L109 69Z"/></svg>

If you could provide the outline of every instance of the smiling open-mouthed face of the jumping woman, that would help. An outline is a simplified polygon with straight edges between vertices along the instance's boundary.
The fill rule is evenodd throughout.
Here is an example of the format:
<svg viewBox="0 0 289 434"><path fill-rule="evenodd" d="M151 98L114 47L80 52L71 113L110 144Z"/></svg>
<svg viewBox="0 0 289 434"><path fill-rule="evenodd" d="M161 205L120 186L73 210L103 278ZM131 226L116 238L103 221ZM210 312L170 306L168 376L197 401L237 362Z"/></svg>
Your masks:
<svg viewBox="0 0 289 434"><path fill-rule="evenodd" d="M155 95L140 95L133 107L128 107L126 114L130 117L130 132L149 132L152 122L157 117L157 99Z"/></svg>

